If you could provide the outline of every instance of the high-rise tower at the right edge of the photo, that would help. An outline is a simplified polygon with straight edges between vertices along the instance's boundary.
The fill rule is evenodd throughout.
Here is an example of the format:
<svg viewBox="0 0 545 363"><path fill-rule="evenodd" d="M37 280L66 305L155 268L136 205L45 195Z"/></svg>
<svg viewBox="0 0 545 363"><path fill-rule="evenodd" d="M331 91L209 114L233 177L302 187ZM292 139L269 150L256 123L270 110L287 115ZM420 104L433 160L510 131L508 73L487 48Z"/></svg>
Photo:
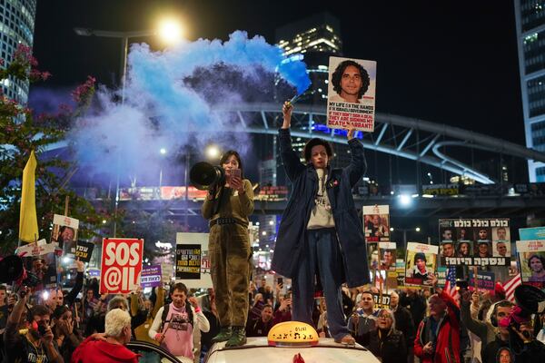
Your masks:
<svg viewBox="0 0 545 363"><path fill-rule="evenodd" d="M545 152L545 1L515 1L526 146ZM545 182L545 163L528 162L530 182Z"/></svg>

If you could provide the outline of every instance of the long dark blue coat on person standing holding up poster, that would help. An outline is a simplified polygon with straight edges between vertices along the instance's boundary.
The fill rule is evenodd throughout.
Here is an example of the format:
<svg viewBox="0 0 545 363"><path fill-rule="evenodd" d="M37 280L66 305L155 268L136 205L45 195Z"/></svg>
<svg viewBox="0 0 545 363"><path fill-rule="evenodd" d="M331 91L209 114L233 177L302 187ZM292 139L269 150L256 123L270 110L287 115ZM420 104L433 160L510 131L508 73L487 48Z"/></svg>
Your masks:
<svg viewBox="0 0 545 363"><path fill-rule="evenodd" d="M297 276L298 261L305 253L307 223L318 191L318 174L311 163L304 165L292 150L290 129L279 131L280 151L285 172L292 182L292 195L278 229L271 269L282 276ZM358 182L367 163L362 143L354 138L348 142L352 154L344 169L328 169L326 190L332 206L335 230L342 251L344 279L350 288L369 283L367 250L362 221L352 198L352 187Z"/></svg>

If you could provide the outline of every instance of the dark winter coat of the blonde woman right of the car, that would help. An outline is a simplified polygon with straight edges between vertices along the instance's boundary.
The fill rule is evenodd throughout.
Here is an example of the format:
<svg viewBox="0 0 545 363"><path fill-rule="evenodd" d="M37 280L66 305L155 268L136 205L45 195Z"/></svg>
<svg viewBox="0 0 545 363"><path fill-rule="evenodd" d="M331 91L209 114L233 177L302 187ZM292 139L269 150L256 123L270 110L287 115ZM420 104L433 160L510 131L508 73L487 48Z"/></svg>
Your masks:
<svg viewBox="0 0 545 363"><path fill-rule="evenodd" d="M400 330L390 329L384 337L380 329L371 332L369 350L376 357L381 357L382 363L406 363L407 345Z"/></svg>

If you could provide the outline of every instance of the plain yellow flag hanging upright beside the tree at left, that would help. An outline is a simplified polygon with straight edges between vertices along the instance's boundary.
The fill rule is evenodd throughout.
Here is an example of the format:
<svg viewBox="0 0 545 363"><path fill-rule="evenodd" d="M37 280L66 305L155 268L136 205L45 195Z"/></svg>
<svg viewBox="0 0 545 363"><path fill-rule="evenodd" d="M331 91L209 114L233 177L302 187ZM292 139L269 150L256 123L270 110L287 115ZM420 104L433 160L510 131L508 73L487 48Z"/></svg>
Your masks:
<svg viewBox="0 0 545 363"><path fill-rule="evenodd" d="M23 192L19 216L19 240L34 242L38 240L38 219L36 217L36 157L30 153L23 171Z"/></svg>

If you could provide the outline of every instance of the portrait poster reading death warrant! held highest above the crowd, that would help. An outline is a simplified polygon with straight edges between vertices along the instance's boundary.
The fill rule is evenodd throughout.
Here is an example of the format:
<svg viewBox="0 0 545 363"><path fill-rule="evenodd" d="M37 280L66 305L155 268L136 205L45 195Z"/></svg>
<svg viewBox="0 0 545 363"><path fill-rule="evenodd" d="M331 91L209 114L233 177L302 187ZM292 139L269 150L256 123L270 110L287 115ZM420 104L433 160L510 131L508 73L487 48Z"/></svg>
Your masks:
<svg viewBox="0 0 545 363"><path fill-rule="evenodd" d="M377 63L330 57L327 126L374 130Z"/></svg>

